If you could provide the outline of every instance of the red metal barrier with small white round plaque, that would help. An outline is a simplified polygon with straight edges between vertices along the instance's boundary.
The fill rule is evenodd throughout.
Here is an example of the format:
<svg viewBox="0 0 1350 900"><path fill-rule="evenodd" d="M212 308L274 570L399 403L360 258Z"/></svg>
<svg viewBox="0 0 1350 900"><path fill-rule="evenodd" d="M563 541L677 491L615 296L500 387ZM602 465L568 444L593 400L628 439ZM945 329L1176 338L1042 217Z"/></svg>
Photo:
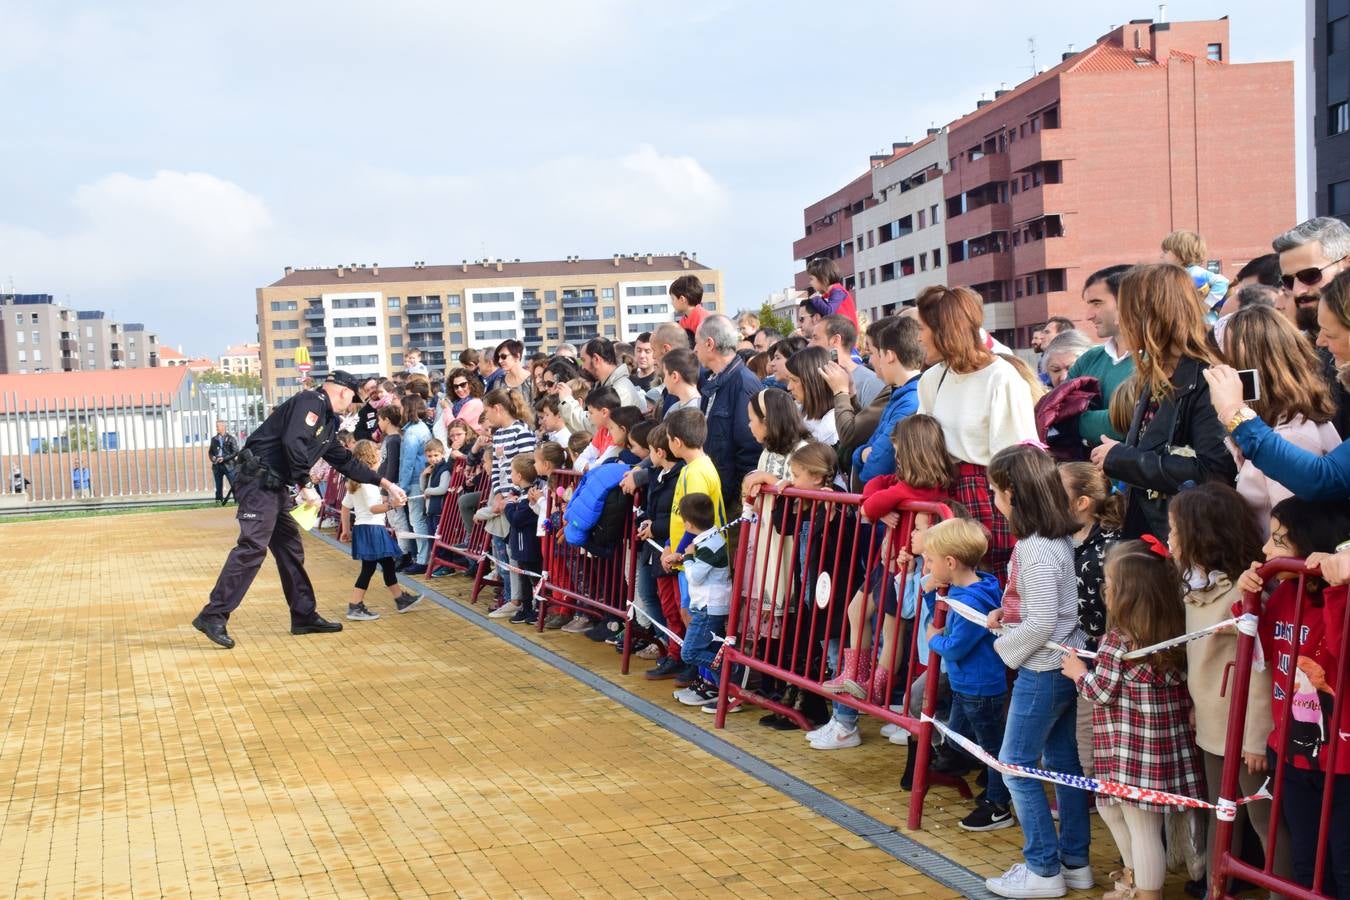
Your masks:
<svg viewBox="0 0 1350 900"><path fill-rule="evenodd" d="M902 555L909 552L915 518L941 519L952 513L937 503L905 503L895 525L886 528L861 521L861 499L859 494L791 487L767 487L756 498L752 521L741 525L736 546L716 725L725 725L728 703L740 698L794 719L803 730L810 727L796 710L736 685L732 667L744 665L902 726L917 738L909 818L909 827L917 828L925 795L934 781L971 796L964 780L929 772L933 726L907 710L914 683L926 671L937 672L938 660L936 653L918 658L918 617L911 622L900 615L903 586L917 578ZM899 587L894 583L896 575ZM895 614L883 618L879 610L892 588ZM946 607L938 604L934 623L941 626L945 615ZM871 626L873 621L878 627ZM864 640L863 631L869 637ZM822 687L832 675L828 644L834 640L841 645L840 658L849 644L856 645L861 658L878 661L883 652L888 657L890 664L880 663L880 675L867 698L832 694ZM922 712L929 715L937 704L937 681L925 679ZM906 712L890 708L896 684L903 688L899 706Z"/></svg>

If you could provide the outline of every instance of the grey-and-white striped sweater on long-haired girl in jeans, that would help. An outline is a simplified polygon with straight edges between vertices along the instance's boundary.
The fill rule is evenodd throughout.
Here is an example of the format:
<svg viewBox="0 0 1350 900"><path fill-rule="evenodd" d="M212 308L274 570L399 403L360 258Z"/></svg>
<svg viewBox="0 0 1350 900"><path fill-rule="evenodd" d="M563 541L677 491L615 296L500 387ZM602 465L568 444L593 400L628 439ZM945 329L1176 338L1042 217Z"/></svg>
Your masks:
<svg viewBox="0 0 1350 900"><path fill-rule="evenodd" d="M1018 540L1008 563L1003 625L1006 630L994 641L994 649L1010 669L1053 672L1064 653L1046 648L1046 641L1073 648L1087 644L1079 627L1073 541L1040 534Z"/></svg>

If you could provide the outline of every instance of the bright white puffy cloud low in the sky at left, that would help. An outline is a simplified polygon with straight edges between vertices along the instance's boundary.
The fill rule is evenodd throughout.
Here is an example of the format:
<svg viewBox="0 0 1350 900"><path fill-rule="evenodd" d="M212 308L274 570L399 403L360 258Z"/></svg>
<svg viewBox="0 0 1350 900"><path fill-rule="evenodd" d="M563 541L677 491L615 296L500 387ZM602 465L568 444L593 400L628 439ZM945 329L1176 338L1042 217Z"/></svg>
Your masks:
<svg viewBox="0 0 1350 900"><path fill-rule="evenodd" d="M101 290L217 275L256 260L274 227L262 198L205 173L113 173L80 186L70 206L62 231L0 223L24 283Z"/></svg>

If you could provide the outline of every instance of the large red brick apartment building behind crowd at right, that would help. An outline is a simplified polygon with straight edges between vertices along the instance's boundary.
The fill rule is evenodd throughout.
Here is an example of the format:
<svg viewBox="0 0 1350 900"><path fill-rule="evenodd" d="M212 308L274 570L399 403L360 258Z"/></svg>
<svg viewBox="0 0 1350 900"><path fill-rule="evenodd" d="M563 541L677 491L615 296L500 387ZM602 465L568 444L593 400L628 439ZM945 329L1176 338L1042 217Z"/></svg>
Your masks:
<svg viewBox="0 0 1350 900"><path fill-rule="evenodd" d="M1200 232L1211 266L1231 275L1293 224L1292 63L1230 58L1227 19L1135 20L942 130L946 281L984 297L1000 339L1026 347L1046 317L1080 320L1087 275L1157 259L1176 228ZM1262 128L1227 127L1253 109ZM906 150L873 157L873 181ZM841 192L855 192L855 224L876 202L856 196L859 181ZM801 239L794 255L810 248ZM860 282L860 306L907 302L919 281L880 283L879 297Z"/></svg>

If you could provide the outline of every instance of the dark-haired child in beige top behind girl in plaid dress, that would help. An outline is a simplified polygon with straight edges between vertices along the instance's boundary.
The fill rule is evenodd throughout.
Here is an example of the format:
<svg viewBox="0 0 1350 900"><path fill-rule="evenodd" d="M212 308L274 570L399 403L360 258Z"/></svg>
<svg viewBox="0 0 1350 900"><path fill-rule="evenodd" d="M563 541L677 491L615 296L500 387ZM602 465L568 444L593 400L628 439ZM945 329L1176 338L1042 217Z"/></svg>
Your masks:
<svg viewBox="0 0 1350 900"><path fill-rule="evenodd" d="M1168 545L1181 580L1185 583L1185 630L1196 631L1231 617L1234 604L1241 606L1242 592L1237 580L1247 563L1261 557L1261 530L1251 507L1241 494L1218 482L1206 482L1197 487L1181 491L1168 505ZM1223 528L1215 528L1223 522ZM1210 801L1219 797L1219 781L1223 775L1223 754L1228 731L1228 706L1233 691L1228 668L1238 657L1238 636L1235 633L1211 634L1200 641L1185 645L1187 687L1195 707L1195 742L1200 748L1200 761L1204 765L1204 779L1210 788ZM1080 698L1081 706L1081 698ZM1243 765L1238 773L1238 785L1243 796L1256 793L1266 777L1266 738L1274 727L1270 718L1270 673L1253 671L1247 690L1246 730L1242 737ZM1270 824L1270 804L1250 803L1238 807L1238 819L1233 830L1233 853L1242 854L1243 822L1251 818L1251 826L1266 839ZM1218 824L1215 816L1208 819L1210 835L1207 846L1210 861L1214 854L1214 837ZM1282 835L1276 843L1280 860L1276 872L1289 870L1289 838Z"/></svg>

